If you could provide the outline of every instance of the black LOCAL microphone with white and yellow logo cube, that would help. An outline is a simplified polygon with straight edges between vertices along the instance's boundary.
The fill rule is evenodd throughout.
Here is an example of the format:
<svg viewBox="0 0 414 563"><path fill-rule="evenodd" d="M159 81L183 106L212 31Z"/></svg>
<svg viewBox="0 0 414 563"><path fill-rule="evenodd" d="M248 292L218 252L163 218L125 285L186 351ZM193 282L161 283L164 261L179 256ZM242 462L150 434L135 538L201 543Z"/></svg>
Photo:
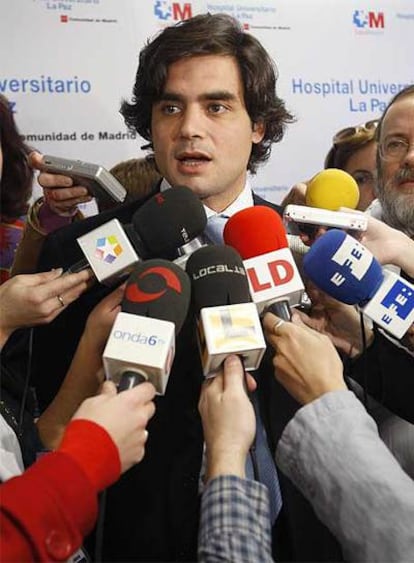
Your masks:
<svg viewBox="0 0 414 563"><path fill-rule="evenodd" d="M204 376L213 376L230 354L242 357L245 370L257 369L266 343L240 255L226 245L207 245L189 257L186 271Z"/></svg>

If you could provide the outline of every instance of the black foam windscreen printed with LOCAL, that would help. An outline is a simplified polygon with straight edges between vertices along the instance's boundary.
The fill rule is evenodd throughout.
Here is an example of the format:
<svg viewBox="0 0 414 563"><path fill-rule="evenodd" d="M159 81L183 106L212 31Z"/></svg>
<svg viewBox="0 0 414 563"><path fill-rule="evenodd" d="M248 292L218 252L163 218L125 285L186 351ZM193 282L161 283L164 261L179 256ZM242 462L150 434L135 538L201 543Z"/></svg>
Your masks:
<svg viewBox="0 0 414 563"><path fill-rule="evenodd" d="M226 245L209 245L193 252L186 271L191 279L197 313L203 307L250 303L246 270L240 255Z"/></svg>

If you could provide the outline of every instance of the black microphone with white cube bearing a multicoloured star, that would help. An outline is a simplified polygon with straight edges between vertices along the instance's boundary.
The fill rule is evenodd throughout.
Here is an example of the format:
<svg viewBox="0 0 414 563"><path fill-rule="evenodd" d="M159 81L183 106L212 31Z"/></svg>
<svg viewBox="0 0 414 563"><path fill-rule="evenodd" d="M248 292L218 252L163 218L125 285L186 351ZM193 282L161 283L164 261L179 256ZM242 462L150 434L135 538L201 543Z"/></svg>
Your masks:
<svg viewBox="0 0 414 563"><path fill-rule="evenodd" d="M197 235L207 223L199 198L187 187L177 186L157 193L122 226L112 219L77 239L86 260L69 272L92 268L96 279L112 285L146 258L171 258L197 246ZM198 243L201 246L201 242Z"/></svg>

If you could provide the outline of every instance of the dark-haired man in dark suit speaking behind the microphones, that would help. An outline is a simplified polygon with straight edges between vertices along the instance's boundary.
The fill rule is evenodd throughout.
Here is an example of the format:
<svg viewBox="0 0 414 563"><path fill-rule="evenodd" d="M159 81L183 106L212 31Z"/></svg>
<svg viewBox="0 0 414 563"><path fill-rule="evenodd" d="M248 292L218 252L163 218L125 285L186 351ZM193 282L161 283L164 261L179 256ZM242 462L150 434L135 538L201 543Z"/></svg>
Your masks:
<svg viewBox="0 0 414 563"><path fill-rule="evenodd" d="M260 42L227 15L195 16L165 28L150 41L140 53L132 102L124 101L121 113L153 151L163 177L153 193L186 185L199 196L208 217L231 216L258 204L280 211L255 195L248 181L248 172L254 174L267 160L272 144L282 139L285 126L293 120L276 95L276 78L274 63ZM84 188L72 186L61 176L42 173L39 182L50 197L68 198L70 205L85 196ZM113 217L129 222L141 204L142 200L120 206L49 235L39 269L68 267L81 259L78 236ZM87 313L107 292L95 285L49 330L36 330L33 381L43 407L59 385ZM53 349L59 351L59 358L50 370L48 356ZM260 371L266 375L267 369L273 373L264 362ZM157 398L157 416L148 427L147 455L108 493L105 560L196 559L203 447L197 411L201 374L190 315L178 339L167 393ZM280 410L275 401L283 391L270 375L258 379L263 418L275 440L279 429L270 414ZM287 407L278 419L280 425L291 416L290 408L293 412L296 408L287 393L281 399ZM300 493L285 481L284 508L274 527L274 553L285 560L337 560L336 544L331 546L333 551L326 548L318 534L328 532ZM296 527L307 540L295 537Z"/></svg>

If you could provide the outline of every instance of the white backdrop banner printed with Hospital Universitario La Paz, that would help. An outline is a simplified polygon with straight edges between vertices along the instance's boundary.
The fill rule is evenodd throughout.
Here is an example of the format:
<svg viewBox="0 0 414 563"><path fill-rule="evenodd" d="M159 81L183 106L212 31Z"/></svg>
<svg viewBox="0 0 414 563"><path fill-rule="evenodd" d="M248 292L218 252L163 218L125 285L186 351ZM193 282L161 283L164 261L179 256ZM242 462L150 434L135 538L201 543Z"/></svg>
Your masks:
<svg viewBox="0 0 414 563"><path fill-rule="evenodd" d="M204 12L231 14L260 39L296 117L252 178L270 201L323 168L337 130L378 117L414 82L412 0L2 0L0 93L27 143L106 168L146 154L119 114L139 51Z"/></svg>

